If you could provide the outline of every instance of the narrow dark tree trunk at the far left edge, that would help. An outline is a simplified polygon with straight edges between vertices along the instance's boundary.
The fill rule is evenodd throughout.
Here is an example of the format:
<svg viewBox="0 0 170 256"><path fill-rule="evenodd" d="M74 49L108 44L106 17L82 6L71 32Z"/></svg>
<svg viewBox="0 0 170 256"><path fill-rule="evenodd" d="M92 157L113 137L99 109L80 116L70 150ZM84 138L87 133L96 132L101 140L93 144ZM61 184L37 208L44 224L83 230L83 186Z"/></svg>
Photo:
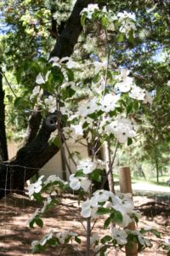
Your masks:
<svg viewBox="0 0 170 256"><path fill-rule="evenodd" d="M7 137L5 132L5 105L3 75L0 67L0 163L8 160Z"/></svg>

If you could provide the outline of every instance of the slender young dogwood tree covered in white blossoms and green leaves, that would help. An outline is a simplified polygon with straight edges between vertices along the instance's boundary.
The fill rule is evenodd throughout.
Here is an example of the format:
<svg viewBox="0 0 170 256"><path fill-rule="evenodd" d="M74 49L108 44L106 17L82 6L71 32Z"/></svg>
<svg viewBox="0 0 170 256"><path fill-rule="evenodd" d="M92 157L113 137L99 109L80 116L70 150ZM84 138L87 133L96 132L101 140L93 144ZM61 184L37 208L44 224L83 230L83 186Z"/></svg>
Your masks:
<svg viewBox="0 0 170 256"><path fill-rule="evenodd" d="M100 60L95 56L90 68L94 77L90 86L82 87L81 79L77 73L83 72L87 63L78 63L65 57L59 60L52 57L46 65L40 67L37 75L37 86L32 91L30 100L42 113L57 113L57 132L50 138L49 143L57 143L62 150L62 143L67 138L72 138L77 143L90 145L88 159L82 159L76 153L70 152L71 160L75 165L75 172L71 173L69 181L65 182L59 177L50 176L46 181L40 177L37 183L28 187L27 194L31 199L43 201L42 209L37 209L29 220L31 227L34 224L42 227L42 214L57 204L58 195L67 189L72 189L80 195L80 216L86 220L86 255L106 255L112 248L131 247L132 243L138 244L139 251L151 247L150 240L144 237L147 232L156 236L159 233L152 228L128 230L128 224L138 223L140 213L134 210L132 195L116 194L110 186L110 191L103 189L102 176L106 170L106 178L112 176L112 166L115 155L106 161L100 160L98 152L107 144L131 144L138 134L138 124L134 116L139 113L140 106L152 103L150 93L135 84L135 79L130 70L125 67L111 67L112 45L109 33L116 32L117 38L135 38L137 20L133 13L122 11L113 14L106 7L99 8L97 4L88 4L82 10L82 26L87 22L94 22L101 27L105 35L105 59ZM42 90L48 92L42 94ZM83 96L84 90L88 97ZM50 95L49 95L50 94ZM69 150L69 149L68 149ZM116 149L115 149L116 153ZM71 171L71 170L70 170ZM101 188L95 190L94 182L101 182ZM113 182L113 181L112 181ZM43 198L46 192L48 197ZM99 216L105 216L104 229L107 236L94 233L95 222ZM71 241L81 243L79 234L71 230L61 230L55 233L51 230L40 241L32 241L34 252L44 250L49 246L66 246Z"/></svg>

